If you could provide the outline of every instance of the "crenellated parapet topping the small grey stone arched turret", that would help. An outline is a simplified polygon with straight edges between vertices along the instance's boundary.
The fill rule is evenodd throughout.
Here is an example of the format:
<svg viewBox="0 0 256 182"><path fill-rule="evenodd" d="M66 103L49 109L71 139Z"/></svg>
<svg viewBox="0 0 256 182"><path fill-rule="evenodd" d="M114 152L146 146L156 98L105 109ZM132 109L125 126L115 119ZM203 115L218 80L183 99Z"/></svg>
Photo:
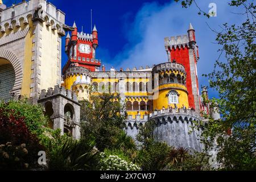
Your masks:
<svg viewBox="0 0 256 182"><path fill-rule="evenodd" d="M48 97L55 97L57 95L64 96L69 98L69 100L77 102L76 93L72 92L71 90L65 89L63 86L55 85L53 88L48 88L47 92L46 89L41 90L39 100L48 98Z"/></svg>

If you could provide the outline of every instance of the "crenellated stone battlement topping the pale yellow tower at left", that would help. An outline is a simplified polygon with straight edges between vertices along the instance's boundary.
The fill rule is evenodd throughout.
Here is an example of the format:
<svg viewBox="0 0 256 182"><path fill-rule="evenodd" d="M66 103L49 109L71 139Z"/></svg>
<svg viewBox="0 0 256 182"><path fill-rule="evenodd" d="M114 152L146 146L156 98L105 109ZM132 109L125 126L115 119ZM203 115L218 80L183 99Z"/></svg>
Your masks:
<svg viewBox="0 0 256 182"><path fill-rule="evenodd" d="M22 23L26 25L31 17L34 21L46 22L46 26L51 26L52 30L57 30L61 36L65 35L65 14L46 0L23 1L3 9L0 20L1 32L11 31L14 27L20 27Z"/></svg>

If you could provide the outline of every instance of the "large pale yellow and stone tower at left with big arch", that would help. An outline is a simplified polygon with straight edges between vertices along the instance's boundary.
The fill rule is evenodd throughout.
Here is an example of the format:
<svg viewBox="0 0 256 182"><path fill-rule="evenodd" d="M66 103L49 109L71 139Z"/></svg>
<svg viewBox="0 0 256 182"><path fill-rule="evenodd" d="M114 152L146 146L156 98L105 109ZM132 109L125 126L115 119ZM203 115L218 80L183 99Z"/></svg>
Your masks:
<svg viewBox="0 0 256 182"><path fill-rule="evenodd" d="M61 81L65 14L46 0L0 5L0 98L31 98Z"/></svg>

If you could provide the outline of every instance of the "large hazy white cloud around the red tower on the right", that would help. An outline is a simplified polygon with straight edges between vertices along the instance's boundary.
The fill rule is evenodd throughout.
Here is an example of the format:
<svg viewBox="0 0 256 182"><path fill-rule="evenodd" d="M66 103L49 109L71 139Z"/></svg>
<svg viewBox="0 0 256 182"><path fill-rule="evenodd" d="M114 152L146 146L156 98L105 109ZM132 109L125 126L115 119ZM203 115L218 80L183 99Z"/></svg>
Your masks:
<svg viewBox="0 0 256 182"><path fill-rule="evenodd" d="M209 11L212 1L197 2L201 9ZM196 30L197 44L199 45L200 60L197 65L199 84L208 85L207 78L201 77L213 69L218 57L218 45L214 44L216 35L207 26L220 30L220 25L229 22L236 23L241 20L240 15L230 13L229 1L214 1L217 5L217 17L206 18L198 15L197 7L188 9L181 7L180 3L170 2L159 5L156 2L146 3L138 11L134 22L125 22L126 38L128 43L123 50L114 57L112 63L122 68L139 68L141 65L152 66L167 61L164 48L164 37L187 34L189 23ZM235 11L235 10L232 10ZM207 22L207 23L206 23ZM130 27L130 28L128 28ZM216 93L214 93L216 94Z"/></svg>

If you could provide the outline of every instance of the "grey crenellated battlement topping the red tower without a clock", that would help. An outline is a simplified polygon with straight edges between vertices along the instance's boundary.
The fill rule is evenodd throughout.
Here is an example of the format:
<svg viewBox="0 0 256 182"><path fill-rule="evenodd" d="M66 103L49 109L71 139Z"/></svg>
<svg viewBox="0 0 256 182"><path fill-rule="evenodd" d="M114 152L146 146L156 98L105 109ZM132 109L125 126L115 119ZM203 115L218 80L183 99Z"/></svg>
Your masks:
<svg viewBox="0 0 256 182"><path fill-rule="evenodd" d="M185 46L189 46L189 38L188 35L179 35L179 36L171 36L164 38L164 46L166 47L166 50L168 50L168 47L172 47L174 46L174 48L176 47L185 47Z"/></svg>

